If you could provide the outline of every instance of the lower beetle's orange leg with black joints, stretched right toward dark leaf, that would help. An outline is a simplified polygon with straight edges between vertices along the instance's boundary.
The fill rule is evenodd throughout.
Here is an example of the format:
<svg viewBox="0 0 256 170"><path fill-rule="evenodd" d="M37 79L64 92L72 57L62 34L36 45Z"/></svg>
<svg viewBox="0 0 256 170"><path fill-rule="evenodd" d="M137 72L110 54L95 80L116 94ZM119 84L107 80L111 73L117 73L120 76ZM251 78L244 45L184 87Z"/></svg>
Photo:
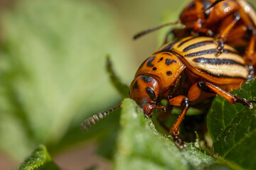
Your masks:
<svg viewBox="0 0 256 170"><path fill-rule="evenodd" d="M252 103L250 101L247 101L245 98L239 98L238 96L234 96L227 91L224 91L223 89L220 89L218 86L215 86L213 84L210 84L208 82L198 82L198 87L202 91L214 91L216 94L222 96L230 103L242 103L244 106L247 106L248 108L253 108Z"/></svg>

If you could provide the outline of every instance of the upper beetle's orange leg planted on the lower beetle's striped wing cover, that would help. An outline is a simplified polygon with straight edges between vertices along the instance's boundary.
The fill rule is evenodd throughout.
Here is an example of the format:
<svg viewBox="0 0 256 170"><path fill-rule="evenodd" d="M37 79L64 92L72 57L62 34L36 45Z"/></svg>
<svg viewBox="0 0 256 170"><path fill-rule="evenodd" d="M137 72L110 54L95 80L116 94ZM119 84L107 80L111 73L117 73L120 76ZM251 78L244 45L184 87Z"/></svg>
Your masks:
<svg viewBox="0 0 256 170"><path fill-rule="evenodd" d="M235 19L233 22L229 23L227 27L225 27L223 30L220 31L220 33L217 35L217 41L218 41L218 53L221 54L224 50L224 41L225 38L227 37L228 33L230 30L235 26L235 23L237 23L240 20L240 13L235 13L234 14Z"/></svg>

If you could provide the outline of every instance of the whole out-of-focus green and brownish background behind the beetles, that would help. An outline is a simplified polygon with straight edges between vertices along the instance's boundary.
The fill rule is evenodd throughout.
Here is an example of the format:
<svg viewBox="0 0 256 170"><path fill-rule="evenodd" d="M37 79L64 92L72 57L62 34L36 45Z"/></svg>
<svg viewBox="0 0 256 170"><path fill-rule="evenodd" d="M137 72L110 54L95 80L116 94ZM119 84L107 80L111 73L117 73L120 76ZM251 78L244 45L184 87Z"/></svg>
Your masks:
<svg viewBox="0 0 256 170"><path fill-rule="evenodd" d="M110 84L105 57L129 85L170 28L137 41L132 36L176 21L188 0L0 3L0 169L17 167L38 144L62 168L110 168L119 115L87 134L80 130L82 120L122 100Z"/></svg>

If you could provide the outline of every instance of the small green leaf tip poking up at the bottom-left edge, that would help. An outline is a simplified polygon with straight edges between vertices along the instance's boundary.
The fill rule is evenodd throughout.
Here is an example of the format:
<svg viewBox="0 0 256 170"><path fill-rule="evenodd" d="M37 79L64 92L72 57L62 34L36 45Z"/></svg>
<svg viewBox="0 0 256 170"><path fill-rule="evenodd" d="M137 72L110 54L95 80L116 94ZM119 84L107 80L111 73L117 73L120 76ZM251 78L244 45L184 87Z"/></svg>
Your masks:
<svg viewBox="0 0 256 170"><path fill-rule="evenodd" d="M52 161L50 154L48 154L46 146L39 145L38 148L26 159L19 170L33 170L33 169L59 169Z"/></svg>

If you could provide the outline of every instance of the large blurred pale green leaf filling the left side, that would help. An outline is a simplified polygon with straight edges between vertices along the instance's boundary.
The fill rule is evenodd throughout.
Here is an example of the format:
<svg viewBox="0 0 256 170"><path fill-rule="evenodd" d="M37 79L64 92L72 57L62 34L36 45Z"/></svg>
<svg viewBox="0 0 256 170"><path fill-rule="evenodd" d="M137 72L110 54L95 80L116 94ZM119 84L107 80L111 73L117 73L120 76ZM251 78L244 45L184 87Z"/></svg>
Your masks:
<svg viewBox="0 0 256 170"><path fill-rule="evenodd" d="M132 50L121 40L117 16L107 3L23 0L2 18L4 152L21 161L38 143L58 144L82 119L119 103L105 72L105 56L110 54L120 74L129 78Z"/></svg>

